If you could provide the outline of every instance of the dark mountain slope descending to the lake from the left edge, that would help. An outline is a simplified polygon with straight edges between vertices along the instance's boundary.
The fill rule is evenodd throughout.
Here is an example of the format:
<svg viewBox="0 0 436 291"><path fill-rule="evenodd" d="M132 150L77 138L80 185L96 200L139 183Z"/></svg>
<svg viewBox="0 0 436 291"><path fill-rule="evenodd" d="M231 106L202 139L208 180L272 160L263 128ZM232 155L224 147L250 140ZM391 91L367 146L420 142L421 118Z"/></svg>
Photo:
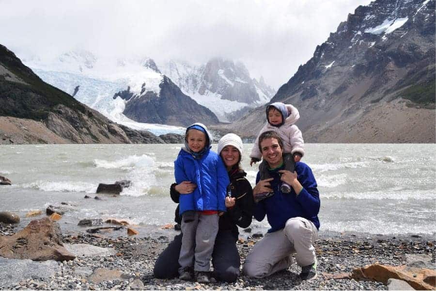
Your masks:
<svg viewBox="0 0 436 291"><path fill-rule="evenodd" d="M42 81L0 45L0 144L165 143L128 129Z"/></svg>

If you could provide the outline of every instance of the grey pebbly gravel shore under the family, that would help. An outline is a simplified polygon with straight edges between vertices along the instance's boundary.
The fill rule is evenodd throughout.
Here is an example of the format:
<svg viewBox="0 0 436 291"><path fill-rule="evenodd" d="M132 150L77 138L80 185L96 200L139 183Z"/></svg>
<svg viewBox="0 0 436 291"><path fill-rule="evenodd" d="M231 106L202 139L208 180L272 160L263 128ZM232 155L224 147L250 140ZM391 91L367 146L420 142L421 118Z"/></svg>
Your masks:
<svg viewBox="0 0 436 291"><path fill-rule="evenodd" d="M13 226L0 224L0 235L11 235ZM174 231L174 234L176 232ZM315 243L318 259L318 277L311 281L298 278L300 268L290 269L264 279L239 276L234 283L217 282L198 284L179 279L163 280L153 276L153 265L160 252L172 237L118 237L100 235L64 235L65 243L88 243L99 247L114 248L115 255L107 257L82 257L73 261L59 262L61 271L50 277L22 279L7 290L387 290L383 283L356 281L354 279L326 279L323 273L351 272L353 268L379 262L381 264L405 264L405 254L425 254L435 262L436 241L432 236L401 235L382 236L362 233L324 233ZM237 243L241 261L246 258L252 245L259 239L248 237ZM119 278L93 282L90 274L99 268L118 270Z"/></svg>

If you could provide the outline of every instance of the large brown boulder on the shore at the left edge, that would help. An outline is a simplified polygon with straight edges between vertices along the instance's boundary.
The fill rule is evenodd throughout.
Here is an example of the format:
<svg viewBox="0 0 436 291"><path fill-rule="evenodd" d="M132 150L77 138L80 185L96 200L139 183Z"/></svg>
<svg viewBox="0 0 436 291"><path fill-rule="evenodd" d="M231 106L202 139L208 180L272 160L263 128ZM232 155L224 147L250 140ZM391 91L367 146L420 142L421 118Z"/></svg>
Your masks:
<svg viewBox="0 0 436 291"><path fill-rule="evenodd" d="M48 217L32 220L20 232L0 237L0 256L9 259L72 260L62 244L61 227Z"/></svg>

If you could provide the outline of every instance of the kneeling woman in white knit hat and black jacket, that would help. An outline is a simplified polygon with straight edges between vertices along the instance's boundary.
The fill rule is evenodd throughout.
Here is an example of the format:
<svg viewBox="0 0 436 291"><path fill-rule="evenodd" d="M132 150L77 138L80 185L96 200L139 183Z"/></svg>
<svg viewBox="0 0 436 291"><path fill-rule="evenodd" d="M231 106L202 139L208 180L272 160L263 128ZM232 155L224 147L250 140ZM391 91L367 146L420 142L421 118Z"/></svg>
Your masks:
<svg viewBox="0 0 436 291"><path fill-rule="evenodd" d="M227 211L219 217L218 234L215 239L212 253L214 277L220 281L234 282L239 275L240 257L236 242L238 240L238 227L246 228L251 224L253 216L253 190L247 175L240 168L244 150L242 140L233 133L224 135L218 142L218 154L223 160L230 178L227 188ZM196 185L184 181L172 184L170 188L171 199L178 203L180 194L191 193ZM175 221L181 222L178 207L175 211ZM182 233L175 236L168 247L159 255L153 270L156 278L169 279L179 276L179 254L182 245Z"/></svg>

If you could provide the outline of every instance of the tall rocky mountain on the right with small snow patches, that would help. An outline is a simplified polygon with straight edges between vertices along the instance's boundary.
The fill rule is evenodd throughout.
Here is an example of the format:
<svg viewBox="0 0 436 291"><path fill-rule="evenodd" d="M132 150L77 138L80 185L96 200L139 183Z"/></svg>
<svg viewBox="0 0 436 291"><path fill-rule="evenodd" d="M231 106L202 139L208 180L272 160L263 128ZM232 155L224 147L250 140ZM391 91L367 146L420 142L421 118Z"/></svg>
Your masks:
<svg viewBox="0 0 436 291"><path fill-rule="evenodd" d="M435 143L435 0L376 0L348 15L271 102L306 142ZM265 107L223 131L256 136Z"/></svg>

